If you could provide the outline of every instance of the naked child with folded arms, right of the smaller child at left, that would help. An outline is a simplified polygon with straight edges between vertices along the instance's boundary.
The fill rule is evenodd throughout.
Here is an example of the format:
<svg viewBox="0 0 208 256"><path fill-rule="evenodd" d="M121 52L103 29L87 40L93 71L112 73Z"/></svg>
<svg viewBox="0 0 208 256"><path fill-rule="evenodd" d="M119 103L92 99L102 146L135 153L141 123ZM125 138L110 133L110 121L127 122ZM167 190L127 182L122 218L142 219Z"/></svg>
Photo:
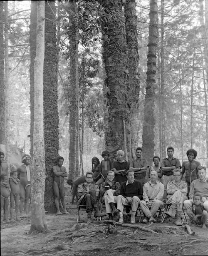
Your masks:
<svg viewBox="0 0 208 256"><path fill-rule="evenodd" d="M10 172L9 178L11 194L10 194L10 218L13 221L13 211L15 204L15 214L16 221L18 221L18 207L19 207L19 199L20 199L20 180L17 178L17 171Z"/></svg>

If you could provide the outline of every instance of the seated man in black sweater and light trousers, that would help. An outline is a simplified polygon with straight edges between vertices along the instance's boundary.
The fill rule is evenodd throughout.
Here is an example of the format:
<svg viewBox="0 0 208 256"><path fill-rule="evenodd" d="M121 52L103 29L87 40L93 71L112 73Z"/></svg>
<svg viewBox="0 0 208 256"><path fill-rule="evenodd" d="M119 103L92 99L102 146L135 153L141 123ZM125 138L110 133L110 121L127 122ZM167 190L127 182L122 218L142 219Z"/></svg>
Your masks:
<svg viewBox="0 0 208 256"><path fill-rule="evenodd" d="M127 181L121 183L120 195L117 197L117 210L119 210L119 222L123 221L124 205L131 205L131 223L135 223L135 214L142 197L142 185L134 180L134 170L127 171Z"/></svg>

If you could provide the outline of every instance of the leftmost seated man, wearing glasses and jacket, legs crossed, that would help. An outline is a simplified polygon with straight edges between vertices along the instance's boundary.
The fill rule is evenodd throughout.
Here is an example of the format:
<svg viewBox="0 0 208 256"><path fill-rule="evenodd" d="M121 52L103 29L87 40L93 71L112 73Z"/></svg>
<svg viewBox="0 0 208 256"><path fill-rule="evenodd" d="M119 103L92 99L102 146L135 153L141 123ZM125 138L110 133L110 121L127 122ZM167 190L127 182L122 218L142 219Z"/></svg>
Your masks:
<svg viewBox="0 0 208 256"><path fill-rule="evenodd" d="M87 222L90 222L92 219L92 210L94 208L94 217L102 217L105 214L102 214L99 211L98 200L99 200L99 186L93 184L93 172L88 171L85 176L86 182L79 184L77 189L78 194L78 205L86 204L87 212Z"/></svg>

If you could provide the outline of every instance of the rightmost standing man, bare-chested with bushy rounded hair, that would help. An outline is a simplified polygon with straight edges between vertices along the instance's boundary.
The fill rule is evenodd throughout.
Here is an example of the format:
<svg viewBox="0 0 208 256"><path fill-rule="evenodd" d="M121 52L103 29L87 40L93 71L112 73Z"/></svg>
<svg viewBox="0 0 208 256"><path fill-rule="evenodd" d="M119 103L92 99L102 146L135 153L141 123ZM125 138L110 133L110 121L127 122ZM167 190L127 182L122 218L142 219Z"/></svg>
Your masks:
<svg viewBox="0 0 208 256"><path fill-rule="evenodd" d="M182 164L182 175L185 173L185 179L188 184L188 194L190 190L190 184L193 180L197 179L198 169L200 162L195 161L194 159L197 156L197 151L194 149L188 149L186 152L188 161L183 162Z"/></svg>

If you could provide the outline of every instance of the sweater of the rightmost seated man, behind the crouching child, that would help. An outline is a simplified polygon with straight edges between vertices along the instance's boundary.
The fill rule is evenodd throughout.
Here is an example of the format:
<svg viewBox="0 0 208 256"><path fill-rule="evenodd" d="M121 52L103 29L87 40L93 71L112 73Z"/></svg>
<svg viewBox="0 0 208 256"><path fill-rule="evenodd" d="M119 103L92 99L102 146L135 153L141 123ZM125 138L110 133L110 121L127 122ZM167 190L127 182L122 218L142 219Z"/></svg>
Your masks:
<svg viewBox="0 0 208 256"><path fill-rule="evenodd" d="M205 182L201 182L200 179L191 182L189 199L193 199L193 195L196 193L200 194L202 197L206 197L208 200L208 179L206 179Z"/></svg>

